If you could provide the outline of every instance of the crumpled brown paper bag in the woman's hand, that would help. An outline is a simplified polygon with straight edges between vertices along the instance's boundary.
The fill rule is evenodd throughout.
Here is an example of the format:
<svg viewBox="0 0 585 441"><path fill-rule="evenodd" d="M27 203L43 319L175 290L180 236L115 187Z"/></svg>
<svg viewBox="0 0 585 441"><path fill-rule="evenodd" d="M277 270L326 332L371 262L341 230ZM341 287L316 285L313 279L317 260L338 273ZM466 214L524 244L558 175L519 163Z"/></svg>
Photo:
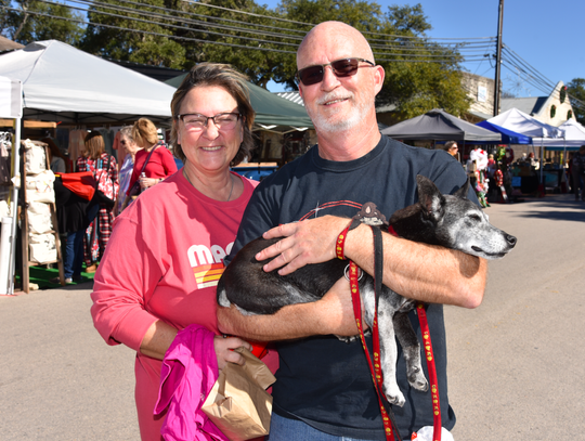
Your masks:
<svg viewBox="0 0 585 441"><path fill-rule="evenodd" d="M246 359L246 364L227 363L202 410L231 441L243 441L269 433L272 395L265 389L276 378L247 349L235 351Z"/></svg>

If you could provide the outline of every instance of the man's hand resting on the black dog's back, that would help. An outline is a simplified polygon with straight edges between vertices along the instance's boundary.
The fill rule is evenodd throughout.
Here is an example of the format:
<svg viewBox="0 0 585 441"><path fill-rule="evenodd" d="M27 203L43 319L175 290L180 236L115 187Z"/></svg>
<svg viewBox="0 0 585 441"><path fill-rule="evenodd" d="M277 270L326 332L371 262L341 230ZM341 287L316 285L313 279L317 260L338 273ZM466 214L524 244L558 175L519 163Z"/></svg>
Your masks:
<svg viewBox="0 0 585 441"><path fill-rule="evenodd" d="M289 274L309 263L326 262L336 258L337 237L349 221L350 219L346 218L324 216L273 228L263 234L264 238L285 238L260 251L256 258L262 261L275 257L264 265L264 271L270 272L283 267L278 270L281 275Z"/></svg>

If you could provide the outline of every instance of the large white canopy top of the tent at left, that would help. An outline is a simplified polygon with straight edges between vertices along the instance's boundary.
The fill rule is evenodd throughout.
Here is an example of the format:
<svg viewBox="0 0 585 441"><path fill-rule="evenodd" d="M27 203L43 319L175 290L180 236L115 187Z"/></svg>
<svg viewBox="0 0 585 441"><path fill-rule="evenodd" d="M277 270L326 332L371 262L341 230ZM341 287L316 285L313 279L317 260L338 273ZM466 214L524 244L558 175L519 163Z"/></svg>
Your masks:
<svg viewBox="0 0 585 441"><path fill-rule="evenodd" d="M22 81L25 119L119 125L171 116L172 87L57 40L0 55L0 76Z"/></svg>

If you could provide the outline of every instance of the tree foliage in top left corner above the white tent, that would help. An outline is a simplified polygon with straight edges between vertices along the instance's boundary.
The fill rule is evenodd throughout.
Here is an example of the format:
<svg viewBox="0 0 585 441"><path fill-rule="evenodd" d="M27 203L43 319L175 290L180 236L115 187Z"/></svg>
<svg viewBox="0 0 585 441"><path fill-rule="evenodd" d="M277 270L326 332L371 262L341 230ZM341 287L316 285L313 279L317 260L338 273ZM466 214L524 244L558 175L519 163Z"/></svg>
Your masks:
<svg viewBox="0 0 585 441"><path fill-rule="evenodd" d="M16 11L5 10L2 34L22 44L54 39L75 46L83 35L82 15L65 3L16 0L12 7L9 1L4 4Z"/></svg>

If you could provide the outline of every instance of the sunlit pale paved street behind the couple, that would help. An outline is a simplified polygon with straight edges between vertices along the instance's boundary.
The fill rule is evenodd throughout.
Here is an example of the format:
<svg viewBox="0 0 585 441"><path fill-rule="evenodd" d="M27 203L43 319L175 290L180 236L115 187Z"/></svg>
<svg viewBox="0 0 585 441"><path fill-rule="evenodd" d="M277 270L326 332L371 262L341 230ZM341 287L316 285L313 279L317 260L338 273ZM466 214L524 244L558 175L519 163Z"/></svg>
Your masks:
<svg viewBox="0 0 585 441"><path fill-rule="evenodd" d="M518 237L482 306L446 308L457 441L583 439L585 204L486 209ZM133 352L94 330L91 284L0 298L0 438L139 440Z"/></svg>

